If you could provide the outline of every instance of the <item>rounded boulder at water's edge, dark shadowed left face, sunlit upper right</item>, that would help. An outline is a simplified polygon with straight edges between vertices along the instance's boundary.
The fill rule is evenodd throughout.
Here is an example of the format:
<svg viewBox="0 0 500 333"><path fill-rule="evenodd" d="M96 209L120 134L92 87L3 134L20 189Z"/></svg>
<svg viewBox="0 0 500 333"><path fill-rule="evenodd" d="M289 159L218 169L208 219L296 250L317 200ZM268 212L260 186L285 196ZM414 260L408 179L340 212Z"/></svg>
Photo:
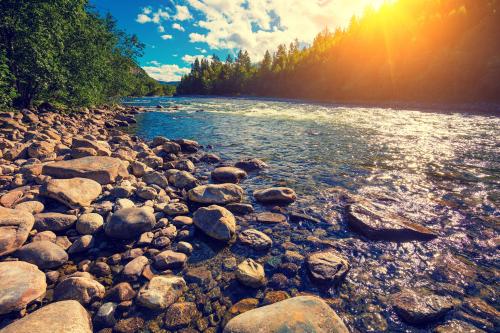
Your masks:
<svg viewBox="0 0 500 333"><path fill-rule="evenodd" d="M193 215L194 225L208 236L229 241L236 233L236 219L224 207L211 205L201 207Z"/></svg>

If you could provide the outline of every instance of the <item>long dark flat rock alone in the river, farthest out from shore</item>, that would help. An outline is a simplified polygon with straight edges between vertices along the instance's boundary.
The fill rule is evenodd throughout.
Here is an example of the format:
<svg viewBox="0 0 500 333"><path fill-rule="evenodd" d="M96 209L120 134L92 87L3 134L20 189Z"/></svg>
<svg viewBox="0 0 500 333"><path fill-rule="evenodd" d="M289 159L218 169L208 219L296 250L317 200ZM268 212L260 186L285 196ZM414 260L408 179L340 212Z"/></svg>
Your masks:
<svg viewBox="0 0 500 333"><path fill-rule="evenodd" d="M386 213L368 201L350 204L347 207L347 222L354 231L371 240L404 242L437 237L429 228Z"/></svg>

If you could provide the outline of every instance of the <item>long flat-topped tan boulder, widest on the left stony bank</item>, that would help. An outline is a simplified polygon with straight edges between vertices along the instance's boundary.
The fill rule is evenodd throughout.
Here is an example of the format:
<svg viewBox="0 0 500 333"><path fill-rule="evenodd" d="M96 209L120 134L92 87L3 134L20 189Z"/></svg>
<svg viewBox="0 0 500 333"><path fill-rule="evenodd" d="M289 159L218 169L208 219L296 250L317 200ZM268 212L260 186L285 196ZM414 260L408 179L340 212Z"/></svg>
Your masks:
<svg viewBox="0 0 500 333"><path fill-rule="evenodd" d="M126 165L121 160L108 156L88 156L49 163L43 166L42 173L55 178L88 178L99 184L109 184L119 177L128 177Z"/></svg>

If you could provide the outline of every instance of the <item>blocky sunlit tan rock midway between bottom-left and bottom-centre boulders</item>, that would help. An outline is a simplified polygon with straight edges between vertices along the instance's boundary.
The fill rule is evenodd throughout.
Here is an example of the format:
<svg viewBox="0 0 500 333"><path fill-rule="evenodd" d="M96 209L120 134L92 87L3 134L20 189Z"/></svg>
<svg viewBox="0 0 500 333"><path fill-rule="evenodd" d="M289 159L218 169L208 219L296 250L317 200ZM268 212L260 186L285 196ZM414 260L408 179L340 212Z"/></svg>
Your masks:
<svg viewBox="0 0 500 333"><path fill-rule="evenodd" d="M186 282L178 276L155 276L137 294L137 302L152 310L164 310L182 295Z"/></svg>

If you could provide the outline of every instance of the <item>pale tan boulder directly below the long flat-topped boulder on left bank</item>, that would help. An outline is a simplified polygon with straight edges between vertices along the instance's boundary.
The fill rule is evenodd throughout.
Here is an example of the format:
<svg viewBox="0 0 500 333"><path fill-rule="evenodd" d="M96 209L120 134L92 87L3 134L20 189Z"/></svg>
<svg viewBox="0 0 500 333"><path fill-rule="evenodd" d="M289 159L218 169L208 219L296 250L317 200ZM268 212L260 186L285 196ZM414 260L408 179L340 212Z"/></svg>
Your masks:
<svg viewBox="0 0 500 333"><path fill-rule="evenodd" d="M42 186L41 194L70 208L90 206L101 195L101 185L87 178L51 179Z"/></svg>

